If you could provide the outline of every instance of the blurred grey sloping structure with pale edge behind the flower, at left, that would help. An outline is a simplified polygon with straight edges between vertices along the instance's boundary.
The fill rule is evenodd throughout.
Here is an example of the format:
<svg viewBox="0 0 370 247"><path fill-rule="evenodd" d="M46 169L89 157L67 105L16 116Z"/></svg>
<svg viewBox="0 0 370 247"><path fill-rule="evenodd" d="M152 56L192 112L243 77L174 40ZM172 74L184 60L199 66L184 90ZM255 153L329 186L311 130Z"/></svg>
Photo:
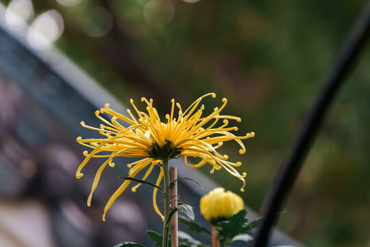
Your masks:
<svg viewBox="0 0 370 247"><path fill-rule="evenodd" d="M97 134L79 122L99 126L95 110L109 103L125 112L125 106L55 48L35 50L25 32L10 32L4 11L0 5L0 246L97 247L124 241L152 246L145 230L161 232L162 222L153 211L150 187L125 191L102 222L106 201L122 183L116 174L127 176L127 167L116 165L103 174L90 208L86 199L99 161L86 166L84 178L74 175L84 158L76 137ZM121 158L115 163L129 162ZM181 201L195 206L217 187L183 161L171 162L179 176L199 180L206 188L180 183ZM199 213L196 218L204 221ZM275 233L272 244L295 242Z"/></svg>

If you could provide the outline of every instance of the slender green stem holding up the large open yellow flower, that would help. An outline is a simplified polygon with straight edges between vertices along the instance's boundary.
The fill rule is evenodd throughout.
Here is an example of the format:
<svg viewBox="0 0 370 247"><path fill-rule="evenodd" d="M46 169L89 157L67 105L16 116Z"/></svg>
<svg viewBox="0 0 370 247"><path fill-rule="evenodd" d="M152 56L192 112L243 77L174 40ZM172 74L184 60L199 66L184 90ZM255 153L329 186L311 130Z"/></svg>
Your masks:
<svg viewBox="0 0 370 247"><path fill-rule="evenodd" d="M162 244L163 247L169 246L169 225L166 225L169 219L170 213L170 174L169 174L169 160L163 159L162 160L162 167L163 167L163 182L164 182L164 222L163 222L163 239Z"/></svg>

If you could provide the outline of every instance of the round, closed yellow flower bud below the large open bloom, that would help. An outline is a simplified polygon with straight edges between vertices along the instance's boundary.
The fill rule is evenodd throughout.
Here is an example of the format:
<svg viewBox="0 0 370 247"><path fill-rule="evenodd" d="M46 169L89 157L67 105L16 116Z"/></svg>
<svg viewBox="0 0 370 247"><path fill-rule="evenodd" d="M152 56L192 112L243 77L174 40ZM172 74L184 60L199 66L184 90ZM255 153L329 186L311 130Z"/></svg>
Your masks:
<svg viewBox="0 0 370 247"><path fill-rule="evenodd" d="M225 192L221 187L213 189L200 200L201 214L211 224L228 220L242 209L244 209L243 199L232 191Z"/></svg>

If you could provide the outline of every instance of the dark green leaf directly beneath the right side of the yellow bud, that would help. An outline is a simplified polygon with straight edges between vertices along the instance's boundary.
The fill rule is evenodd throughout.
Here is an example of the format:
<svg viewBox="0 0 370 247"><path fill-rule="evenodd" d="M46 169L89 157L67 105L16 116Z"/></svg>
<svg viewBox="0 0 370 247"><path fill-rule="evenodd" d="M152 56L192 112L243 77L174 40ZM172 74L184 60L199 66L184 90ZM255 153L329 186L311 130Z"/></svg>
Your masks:
<svg viewBox="0 0 370 247"><path fill-rule="evenodd" d="M248 222L245 215L247 215L247 211L243 209L232 215L229 220L217 222L217 230L219 231L220 239L231 240L236 235L245 233Z"/></svg>

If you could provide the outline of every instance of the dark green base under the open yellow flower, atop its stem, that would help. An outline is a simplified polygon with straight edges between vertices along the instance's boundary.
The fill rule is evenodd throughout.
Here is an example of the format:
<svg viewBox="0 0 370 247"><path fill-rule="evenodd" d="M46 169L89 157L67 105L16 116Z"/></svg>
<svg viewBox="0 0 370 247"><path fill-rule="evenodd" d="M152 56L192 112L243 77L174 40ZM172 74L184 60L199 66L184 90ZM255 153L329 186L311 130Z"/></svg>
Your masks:
<svg viewBox="0 0 370 247"><path fill-rule="evenodd" d="M153 143L148 154L150 158L165 160L178 158L178 155L181 154L181 150L182 148L180 145L173 145L172 141L166 140L166 143L164 143L162 147L160 147L158 143Z"/></svg>

